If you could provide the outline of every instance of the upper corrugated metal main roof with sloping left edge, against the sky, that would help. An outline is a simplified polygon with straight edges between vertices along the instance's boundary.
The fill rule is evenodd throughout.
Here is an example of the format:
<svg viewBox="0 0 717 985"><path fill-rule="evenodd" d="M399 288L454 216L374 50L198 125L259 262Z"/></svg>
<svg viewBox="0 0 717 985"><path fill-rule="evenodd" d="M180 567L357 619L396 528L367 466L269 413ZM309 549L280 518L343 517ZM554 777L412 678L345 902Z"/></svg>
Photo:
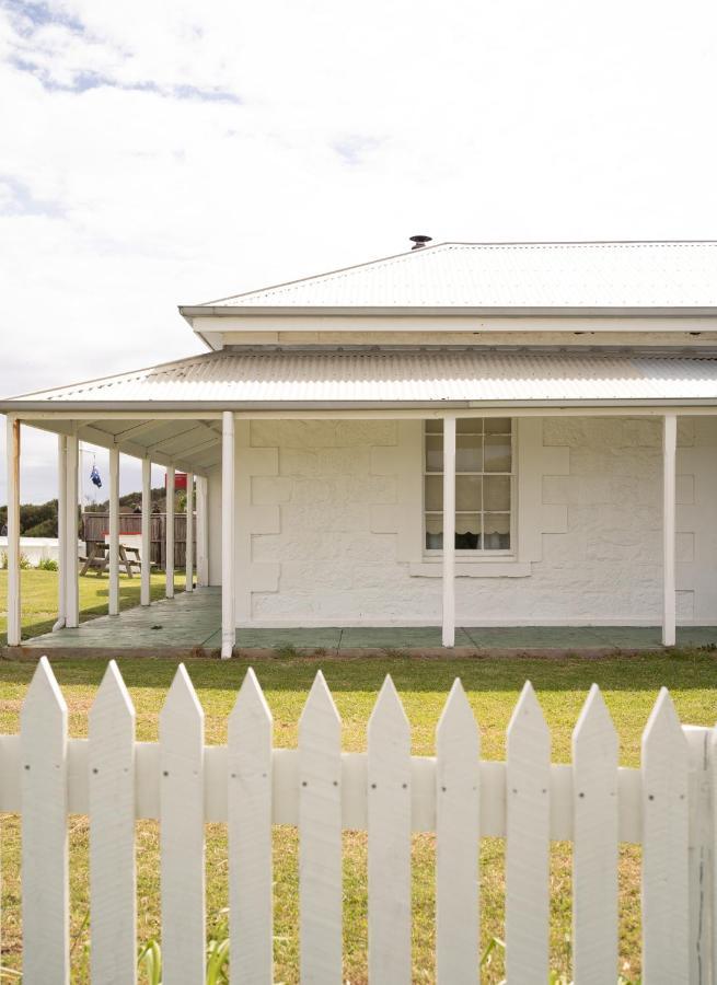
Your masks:
<svg viewBox="0 0 717 985"><path fill-rule="evenodd" d="M201 306L714 308L717 242L440 243Z"/></svg>

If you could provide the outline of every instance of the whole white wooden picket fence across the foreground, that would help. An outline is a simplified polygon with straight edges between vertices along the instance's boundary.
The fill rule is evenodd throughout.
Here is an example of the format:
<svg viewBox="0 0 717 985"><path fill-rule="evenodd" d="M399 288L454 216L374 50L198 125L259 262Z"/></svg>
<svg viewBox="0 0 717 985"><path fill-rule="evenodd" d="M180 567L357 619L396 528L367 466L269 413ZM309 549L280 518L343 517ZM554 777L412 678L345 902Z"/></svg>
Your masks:
<svg viewBox="0 0 717 985"><path fill-rule="evenodd" d="M459 681L436 757L410 755L410 730L386 677L368 752L342 753L340 719L321 672L298 750L274 749L271 715L250 670L227 746L205 745L204 712L180 667L159 743L136 742L135 712L111 662L89 739L68 739L67 706L43 658L20 735L0 737L0 810L22 814L25 985L69 983L68 814L90 816L93 983L136 972L135 822L161 821L165 985L205 981L205 822L227 822L232 983L270 985L273 824L300 836L303 983L342 982L342 830L368 830L369 977L410 982L410 835L436 832L436 977L475 983L479 837L506 838L506 964L511 985L548 973L548 853L574 845L574 976L617 977L617 850L643 846L643 982L715 983L715 733L681 727L663 690L640 769L617 765L617 735L593 685L573 737L573 764L551 764L551 737L525 684L505 763L481 761Z"/></svg>

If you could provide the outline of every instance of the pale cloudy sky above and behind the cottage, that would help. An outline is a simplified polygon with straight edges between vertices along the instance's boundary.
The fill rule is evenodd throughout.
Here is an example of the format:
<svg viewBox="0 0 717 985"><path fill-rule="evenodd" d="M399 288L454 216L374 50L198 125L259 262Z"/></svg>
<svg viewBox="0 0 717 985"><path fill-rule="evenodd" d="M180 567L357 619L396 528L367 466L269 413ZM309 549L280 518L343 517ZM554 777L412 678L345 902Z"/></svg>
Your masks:
<svg viewBox="0 0 717 985"><path fill-rule="evenodd" d="M0 395L415 233L714 239L716 81L714 0L0 0ZM55 459L25 428L23 501Z"/></svg>

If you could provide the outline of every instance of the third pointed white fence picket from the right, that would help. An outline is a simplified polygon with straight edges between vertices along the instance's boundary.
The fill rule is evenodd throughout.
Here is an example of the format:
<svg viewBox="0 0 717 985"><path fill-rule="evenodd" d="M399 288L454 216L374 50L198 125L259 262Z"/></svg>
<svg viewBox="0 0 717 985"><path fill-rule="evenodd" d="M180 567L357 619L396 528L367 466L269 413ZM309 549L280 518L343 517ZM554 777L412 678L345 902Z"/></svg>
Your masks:
<svg viewBox="0 0 717 985"><path fill-rule="evenodd" d="M551 733L530 681L508 726L506 978L548 973Z"/></svg>

